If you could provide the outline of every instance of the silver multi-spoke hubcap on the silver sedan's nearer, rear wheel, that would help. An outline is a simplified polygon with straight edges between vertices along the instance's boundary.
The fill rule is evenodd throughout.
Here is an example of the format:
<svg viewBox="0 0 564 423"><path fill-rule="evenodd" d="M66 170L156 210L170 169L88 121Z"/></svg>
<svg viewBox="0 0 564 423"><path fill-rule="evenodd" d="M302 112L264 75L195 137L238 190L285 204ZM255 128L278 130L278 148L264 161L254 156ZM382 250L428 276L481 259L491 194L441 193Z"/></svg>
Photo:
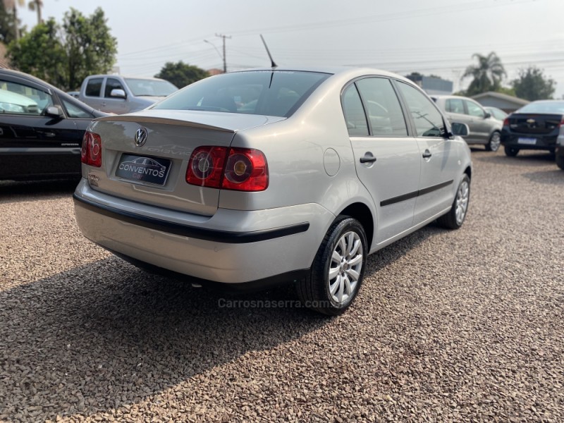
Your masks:
<svg viewBox="0 0 564 423"><path fill-rule="evenodd" d="M362 241L353 231L339 239L329 265L329 294L337 304L347 302L357 290L362 269Z"/></svg>

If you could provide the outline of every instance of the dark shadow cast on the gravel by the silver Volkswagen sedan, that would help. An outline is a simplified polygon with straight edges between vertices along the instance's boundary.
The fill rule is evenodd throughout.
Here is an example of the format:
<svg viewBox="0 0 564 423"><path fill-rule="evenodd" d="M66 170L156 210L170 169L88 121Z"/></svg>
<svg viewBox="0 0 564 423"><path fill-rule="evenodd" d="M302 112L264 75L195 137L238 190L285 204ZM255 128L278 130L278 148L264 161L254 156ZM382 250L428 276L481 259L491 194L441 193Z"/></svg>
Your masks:
<svg viewBox="0 0 564 423"><path fill-rule="evenodd" d="M372 255L366 277L441 232L428 226ZM238 300L243 307L225 307ZM278 301L286 307L264 306ZM291 286L222 297L116 257L0 292L0 304L6 421L128 407L331 321L298 307Z"/></svg>

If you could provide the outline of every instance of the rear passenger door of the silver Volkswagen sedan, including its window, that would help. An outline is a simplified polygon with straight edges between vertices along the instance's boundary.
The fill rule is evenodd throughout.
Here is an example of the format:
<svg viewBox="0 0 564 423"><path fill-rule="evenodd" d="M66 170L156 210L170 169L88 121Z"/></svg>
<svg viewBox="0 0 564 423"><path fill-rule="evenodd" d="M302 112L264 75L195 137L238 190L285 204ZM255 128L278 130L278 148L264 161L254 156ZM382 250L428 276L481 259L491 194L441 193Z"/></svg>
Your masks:
<svg viewBox="0 0 564 423"><path fill-rule="evenodd" d="M376 243L412 226L419 184L419 147L388 78L355 80L343 91L343 111L357 175L376 207Z"/></svg>

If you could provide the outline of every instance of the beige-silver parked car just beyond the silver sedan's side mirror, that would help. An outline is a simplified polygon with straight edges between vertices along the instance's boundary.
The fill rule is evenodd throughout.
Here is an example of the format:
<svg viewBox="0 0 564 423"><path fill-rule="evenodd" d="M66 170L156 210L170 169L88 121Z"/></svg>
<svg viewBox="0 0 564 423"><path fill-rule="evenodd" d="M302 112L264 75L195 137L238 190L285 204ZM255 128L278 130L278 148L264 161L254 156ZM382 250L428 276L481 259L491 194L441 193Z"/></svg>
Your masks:
<svg viewBox="0 0 564 423"><path fill-rule="evenodd" d="M468 125L470 134L464 137L468 144L483 144L490 152L498 151L502 123L491 116L481 104L456 95L434 95L431 99L445 112L448 121Z"/></svg>

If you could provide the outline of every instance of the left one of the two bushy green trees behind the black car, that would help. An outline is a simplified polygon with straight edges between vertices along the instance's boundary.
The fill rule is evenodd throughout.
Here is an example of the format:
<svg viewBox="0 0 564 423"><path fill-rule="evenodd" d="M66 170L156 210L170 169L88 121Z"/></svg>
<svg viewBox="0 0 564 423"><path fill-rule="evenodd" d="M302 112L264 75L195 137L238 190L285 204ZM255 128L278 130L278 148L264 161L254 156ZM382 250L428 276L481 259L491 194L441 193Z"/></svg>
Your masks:
<svg viewBox="0 0 564 423"><path fill-rule="evenodd" d="M36 25L31 32L8 46L12 66L64 87L66 85L64 63L65 50L59 38L59 25L53 18Z"/></svg>

